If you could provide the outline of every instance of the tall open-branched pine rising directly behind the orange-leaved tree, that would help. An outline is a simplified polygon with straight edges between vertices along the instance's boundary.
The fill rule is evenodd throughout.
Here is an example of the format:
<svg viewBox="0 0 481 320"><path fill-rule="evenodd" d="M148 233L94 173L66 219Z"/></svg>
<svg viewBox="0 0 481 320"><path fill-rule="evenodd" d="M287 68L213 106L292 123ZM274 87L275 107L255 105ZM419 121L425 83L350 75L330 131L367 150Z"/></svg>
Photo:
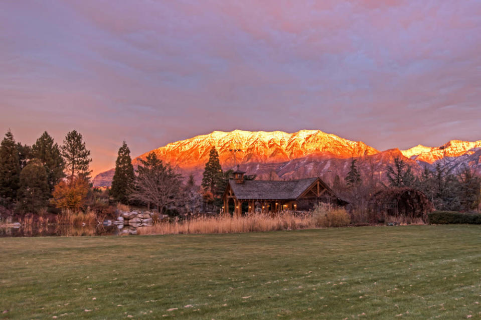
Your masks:
<svg viewBox="0 0 481 320"><path fill-rule="evenodd" d="M92 171L89 170L90 150L85 147L82 134L73 130L67 133L64 144L60 147L65 162L65 170L69 179L83 177L88 180Z"/></svg>

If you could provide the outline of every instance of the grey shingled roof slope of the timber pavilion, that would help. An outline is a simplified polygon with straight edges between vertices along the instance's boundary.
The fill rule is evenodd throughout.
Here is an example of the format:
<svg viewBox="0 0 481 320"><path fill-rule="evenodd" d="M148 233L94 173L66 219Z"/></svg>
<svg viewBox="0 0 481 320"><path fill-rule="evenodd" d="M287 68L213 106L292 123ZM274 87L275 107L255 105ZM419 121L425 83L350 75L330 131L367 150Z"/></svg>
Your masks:
<svg viewBox="0 0 481 320"><path fill-rule="evenodd" d="M317 178L289 181L246 180L238 184L233 180L229 185L237 199L297 199Z"/></svg>

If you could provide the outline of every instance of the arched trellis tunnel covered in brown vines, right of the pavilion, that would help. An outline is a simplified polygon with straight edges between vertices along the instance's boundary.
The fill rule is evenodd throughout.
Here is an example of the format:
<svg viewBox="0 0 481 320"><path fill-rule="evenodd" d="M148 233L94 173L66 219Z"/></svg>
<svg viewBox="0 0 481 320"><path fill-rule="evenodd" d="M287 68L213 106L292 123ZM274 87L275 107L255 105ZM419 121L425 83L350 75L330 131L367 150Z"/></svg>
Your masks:
<svg viewBox="0 0 481 320"><path fill-rule="evenodd" d="M433 210L432 202L424 193L412 188L391 188L378 191L369 201L373 218L384 215L427 219Z"/></svg>

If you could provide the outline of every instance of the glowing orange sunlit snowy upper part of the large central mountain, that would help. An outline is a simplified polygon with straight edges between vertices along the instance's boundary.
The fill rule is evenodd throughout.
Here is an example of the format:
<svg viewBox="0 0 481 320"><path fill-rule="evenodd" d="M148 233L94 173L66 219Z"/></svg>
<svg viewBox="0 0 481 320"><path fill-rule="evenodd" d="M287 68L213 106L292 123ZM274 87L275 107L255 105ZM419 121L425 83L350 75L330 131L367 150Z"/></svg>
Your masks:
<svg viewBox="0 0 481 320"><path fill-rule="evenodd" d="M215 146L224 169L243 163L281 163L301 156L339 158L373 154L378 150L361 141L350 141L319 130L301 130L294 133L282 131L214 131L210 134L169 143L152 150L159 158L182 169L204 168L209 151ZM149 151L151 152L151 151ZM144 158L149 152L140 155Z"/></svg>

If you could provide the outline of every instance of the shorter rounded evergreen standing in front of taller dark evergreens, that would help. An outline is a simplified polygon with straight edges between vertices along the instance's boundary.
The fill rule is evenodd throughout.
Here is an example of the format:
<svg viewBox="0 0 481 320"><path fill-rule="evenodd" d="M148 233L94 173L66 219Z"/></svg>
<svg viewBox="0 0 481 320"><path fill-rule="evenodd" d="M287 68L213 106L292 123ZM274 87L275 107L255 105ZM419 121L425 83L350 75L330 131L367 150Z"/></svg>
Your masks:
<svg viewBox="0 0 481 320"><path fill-rule="evenodd" d="M49 197L47 171L40 160L34 159L20 173L18 209L35 213L48 205Z"/></svg>

